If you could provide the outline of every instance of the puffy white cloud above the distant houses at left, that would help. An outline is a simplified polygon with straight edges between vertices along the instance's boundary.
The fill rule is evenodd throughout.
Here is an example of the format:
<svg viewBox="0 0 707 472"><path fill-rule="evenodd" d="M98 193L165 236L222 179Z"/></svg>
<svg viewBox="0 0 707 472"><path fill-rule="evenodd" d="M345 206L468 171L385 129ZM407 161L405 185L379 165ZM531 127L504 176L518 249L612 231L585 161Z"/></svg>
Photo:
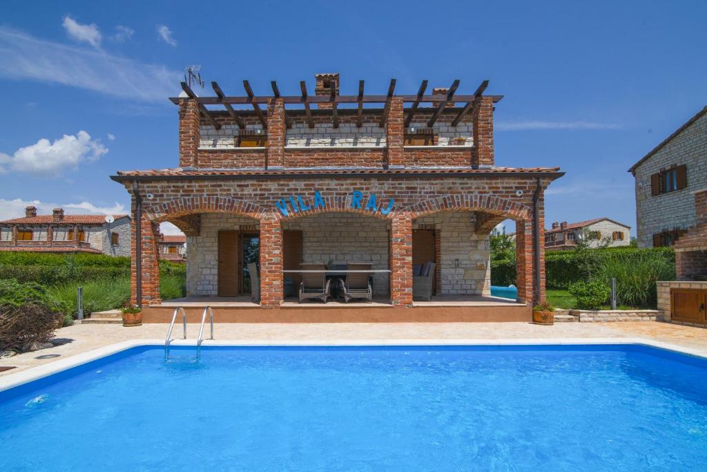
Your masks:
<svg viewBox="0 0 707 472"><path fill-rule="evenodd" d="M79 163L95 161L107 152L100 139L91 139L90 134L79 131L76 136L64 134L53 143L42 138L35 144L21 147L13 156L0 154L0 169L3 173L11 170L61 175L66 170L77 168Z"/></svg>

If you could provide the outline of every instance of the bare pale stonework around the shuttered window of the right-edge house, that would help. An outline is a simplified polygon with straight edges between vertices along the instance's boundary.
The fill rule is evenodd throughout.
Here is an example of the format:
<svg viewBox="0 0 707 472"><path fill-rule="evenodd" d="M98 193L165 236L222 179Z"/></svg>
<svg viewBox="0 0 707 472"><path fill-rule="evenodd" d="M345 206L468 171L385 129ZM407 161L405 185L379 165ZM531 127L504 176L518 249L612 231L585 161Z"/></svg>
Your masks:
<svg viewBox="0 0 707 472"><path fill-rule="evenodd" d="M683 164L687 172L686 188L651 195L651 175ZM705 188L707 182L707 114L641 163L635 170L635 176L638 247L653 247L653 234L694 226L693 192Z"/></svg>

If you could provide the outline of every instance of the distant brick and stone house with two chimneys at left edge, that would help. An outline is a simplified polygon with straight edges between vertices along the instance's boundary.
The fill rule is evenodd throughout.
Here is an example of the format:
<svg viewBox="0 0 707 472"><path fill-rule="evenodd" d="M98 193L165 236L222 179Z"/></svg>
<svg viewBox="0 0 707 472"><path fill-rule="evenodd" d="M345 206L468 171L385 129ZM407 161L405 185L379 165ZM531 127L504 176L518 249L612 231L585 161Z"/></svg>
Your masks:
<svg viewBox="0 0 707 472"><path fill-rule="evenodd" d="M37 214L36 207L26 207L25 217L0 221L0 251L44 253L103 253L130 255L130 217L127 214L107 217L94 214Z"/></svg>

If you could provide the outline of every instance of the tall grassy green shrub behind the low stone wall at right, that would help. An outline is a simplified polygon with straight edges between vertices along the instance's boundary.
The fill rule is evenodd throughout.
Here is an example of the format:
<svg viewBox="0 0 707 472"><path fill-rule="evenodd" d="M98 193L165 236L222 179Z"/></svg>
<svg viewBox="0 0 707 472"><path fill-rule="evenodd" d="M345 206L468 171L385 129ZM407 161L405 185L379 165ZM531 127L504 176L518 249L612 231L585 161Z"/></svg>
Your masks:
<svg viewBox="0 0 707 472"><path fill-rule="evenodd" d="M594 277L607 283L616 278L619 304L655 308L658 305L655 282L674 280L675 265L660 251L610 253L603 258Z"/></svg>

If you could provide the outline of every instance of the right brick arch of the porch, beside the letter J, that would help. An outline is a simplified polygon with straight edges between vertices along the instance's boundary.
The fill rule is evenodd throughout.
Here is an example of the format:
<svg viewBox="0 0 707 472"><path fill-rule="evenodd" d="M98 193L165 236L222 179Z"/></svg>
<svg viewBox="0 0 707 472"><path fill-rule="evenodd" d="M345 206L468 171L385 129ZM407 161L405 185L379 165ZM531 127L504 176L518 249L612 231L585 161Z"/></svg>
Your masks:
<svg viewBox="0 0 707 472"><path fill-rule="evenodd" d="M507 198L491 197L489 195L440 195L423 202L418 202L400 211L411 219L427 214L448 210L472 210L484 212L494 217L526 221L532 216L532 209Z"/></svg>

